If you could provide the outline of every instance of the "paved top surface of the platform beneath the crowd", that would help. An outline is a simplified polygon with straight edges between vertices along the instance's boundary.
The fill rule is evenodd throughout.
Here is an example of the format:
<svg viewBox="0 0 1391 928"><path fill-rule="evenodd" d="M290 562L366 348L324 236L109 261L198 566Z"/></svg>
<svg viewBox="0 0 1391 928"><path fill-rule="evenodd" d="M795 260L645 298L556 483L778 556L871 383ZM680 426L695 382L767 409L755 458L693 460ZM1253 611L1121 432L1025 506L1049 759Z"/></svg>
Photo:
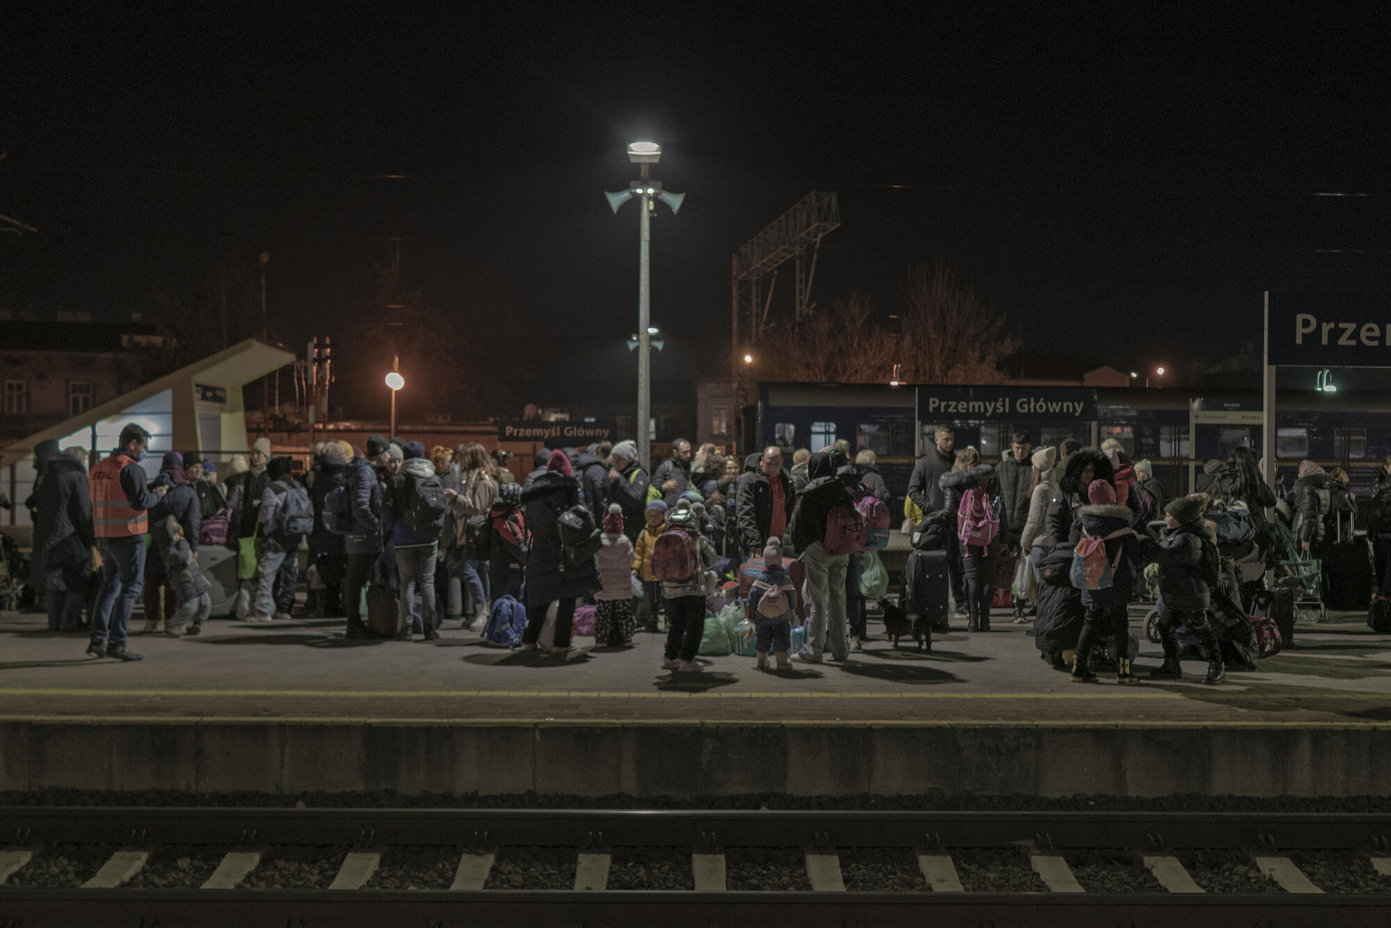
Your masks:
<svg viewBox="0 0 1391 928"><path fill-rule="evenodd" d="M665 634L640 633L632 648L579 637L559 658L494 648L460 629L433 643L349 641L341 619L213 621L184 640L132 634L146 659L122 664L83 657L86 639L49 633L42 615L6 612L0 718L1391 723L1391 636L1372 633L1358 615L1299 626L1294 648L1220 687L1202 686L1196 664L1181 683L1074 686L1039 659L1028 626L1006 616L1000 611L989 634L938 636L931 653L896 650L879 636L843 664L768 673L754 658L722 657L702 673L676 675L659 666ZM1132 611L1136 634L1141 619ZM871 636L879 630L871 621ZM1142 640L1141 675L1159 659L1159 647Z"/></svg>

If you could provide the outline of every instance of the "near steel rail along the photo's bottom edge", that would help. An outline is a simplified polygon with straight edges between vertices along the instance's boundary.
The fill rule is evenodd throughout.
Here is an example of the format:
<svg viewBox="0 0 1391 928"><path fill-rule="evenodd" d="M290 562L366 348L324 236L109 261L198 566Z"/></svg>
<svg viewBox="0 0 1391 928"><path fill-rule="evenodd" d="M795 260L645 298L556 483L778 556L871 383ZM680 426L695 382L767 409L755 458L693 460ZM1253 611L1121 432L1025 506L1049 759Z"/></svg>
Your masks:
<svg viewBox="0 0 1391 928"><path fill-rule="evenodd" d="M1384 928L1391 906L1366 896L1057 896L1046 893L815 892L332 892L0 889L0 924L40 928L455 928L662 925L709 928Z"/></svg>

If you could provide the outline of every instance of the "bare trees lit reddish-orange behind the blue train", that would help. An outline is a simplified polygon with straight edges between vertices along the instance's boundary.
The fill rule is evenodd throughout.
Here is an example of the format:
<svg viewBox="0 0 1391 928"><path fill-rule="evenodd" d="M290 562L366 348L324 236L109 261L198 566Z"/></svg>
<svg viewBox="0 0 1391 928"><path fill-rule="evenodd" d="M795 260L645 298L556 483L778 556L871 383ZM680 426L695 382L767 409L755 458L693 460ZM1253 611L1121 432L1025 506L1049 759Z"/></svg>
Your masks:
<svg viewBox="0 0 1391 928"><path fill-rule="evenodd" d="M875 313L867 296L851 294L828 312L790 331L775 331L775 345L759 359L768 380L883 384L894 377L918 384L995 384L1014 352L1004 316L940 260L908 271L901 326Z"/></svg>

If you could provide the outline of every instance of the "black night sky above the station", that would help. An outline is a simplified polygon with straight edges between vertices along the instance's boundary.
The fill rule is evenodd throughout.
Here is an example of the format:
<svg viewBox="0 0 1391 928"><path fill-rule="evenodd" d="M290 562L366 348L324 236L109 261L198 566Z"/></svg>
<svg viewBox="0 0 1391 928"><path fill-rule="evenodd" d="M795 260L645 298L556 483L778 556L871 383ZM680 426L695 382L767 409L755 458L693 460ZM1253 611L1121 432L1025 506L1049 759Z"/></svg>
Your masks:
<svg viewBox="0 0 1391 928"><path fill-rule="evenodd" d="M1237 353L1266 288L1391 291L1378 4L474 6L7 4L0 213L40 234L0 238L0 305L122 319L268 250L277 334L348 338L399 235L467 328L620 341L602 191L647 138L689 193L654 319L712 371L730 253L814 188L818 302L892 312L942 256L1027 348L1120 367Z"/></svg>

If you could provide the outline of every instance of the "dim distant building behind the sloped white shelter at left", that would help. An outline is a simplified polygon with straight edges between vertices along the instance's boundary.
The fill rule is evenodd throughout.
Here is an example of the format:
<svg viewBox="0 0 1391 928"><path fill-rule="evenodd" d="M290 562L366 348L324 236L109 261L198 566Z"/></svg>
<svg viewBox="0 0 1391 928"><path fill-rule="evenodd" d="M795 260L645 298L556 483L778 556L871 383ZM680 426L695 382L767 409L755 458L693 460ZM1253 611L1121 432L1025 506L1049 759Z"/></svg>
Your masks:
<svg viewBox="0 0 1391 928"><path fill-rule="evenodd" d="M0 445L78 416L138 385L139 352L157 345L146 323L53 320L0 310Z"/></svg>

